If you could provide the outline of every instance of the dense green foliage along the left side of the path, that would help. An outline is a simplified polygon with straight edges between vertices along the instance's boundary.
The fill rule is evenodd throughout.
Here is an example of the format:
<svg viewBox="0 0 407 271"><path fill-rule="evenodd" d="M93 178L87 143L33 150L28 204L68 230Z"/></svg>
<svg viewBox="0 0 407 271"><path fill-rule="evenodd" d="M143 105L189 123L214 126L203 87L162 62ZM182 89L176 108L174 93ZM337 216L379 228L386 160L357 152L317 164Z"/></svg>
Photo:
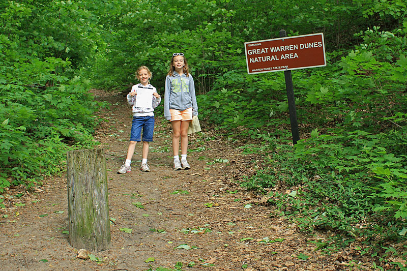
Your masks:
<svg viewBox="0 0 407 271"><path fill-rule="evenodd" d="M73 70L91 54L91 14L71 2L2 6L0 192L40 184L64 167L69 146L92 145L98 107Z"/></svg>

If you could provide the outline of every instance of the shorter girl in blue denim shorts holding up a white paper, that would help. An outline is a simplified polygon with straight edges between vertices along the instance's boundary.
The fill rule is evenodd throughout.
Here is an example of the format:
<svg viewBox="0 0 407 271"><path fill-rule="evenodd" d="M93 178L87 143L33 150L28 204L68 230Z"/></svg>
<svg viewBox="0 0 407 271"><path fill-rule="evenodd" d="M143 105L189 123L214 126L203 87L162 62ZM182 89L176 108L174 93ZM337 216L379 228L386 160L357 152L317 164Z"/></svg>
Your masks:
<svg viewBox="0 0 407 271"><path fill-rule="evenodd" d="M141 128L143 129L143 154L141 162L141 170L143 172L150 171L147 164L147 156L149 155L149 142L153 141L154 132L154 108L161 102L161 96L157 90L150 84L150 78L153 76L149 68L141 66L136 72L137 79L140 83L133 85L131 92L127 95L127 102L133 109L133 123L131 125L130 144L127 150L127 158L124 165L119 169L119 174L124 174L131 171L131 158L134 154L136 142L141 141ZM136 96L138 97L136 99Z"/></svg>

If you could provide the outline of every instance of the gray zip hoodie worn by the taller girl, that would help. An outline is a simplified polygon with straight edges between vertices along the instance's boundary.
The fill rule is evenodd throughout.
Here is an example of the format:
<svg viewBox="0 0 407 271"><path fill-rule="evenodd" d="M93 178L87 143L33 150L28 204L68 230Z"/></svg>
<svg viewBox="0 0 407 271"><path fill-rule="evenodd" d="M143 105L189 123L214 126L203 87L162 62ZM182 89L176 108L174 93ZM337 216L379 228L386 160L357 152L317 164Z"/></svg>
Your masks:
<svg viewBox="0 0 407 271"><path fill-rule="evenodd" d="M198 115L192 75L189 74L187 77L183 74L180 76L176 71L173 72L173 75L167 75L165 78L164 117L168 121L171 119L170 108L183 111L192 107L192 115Z"/></svg>

